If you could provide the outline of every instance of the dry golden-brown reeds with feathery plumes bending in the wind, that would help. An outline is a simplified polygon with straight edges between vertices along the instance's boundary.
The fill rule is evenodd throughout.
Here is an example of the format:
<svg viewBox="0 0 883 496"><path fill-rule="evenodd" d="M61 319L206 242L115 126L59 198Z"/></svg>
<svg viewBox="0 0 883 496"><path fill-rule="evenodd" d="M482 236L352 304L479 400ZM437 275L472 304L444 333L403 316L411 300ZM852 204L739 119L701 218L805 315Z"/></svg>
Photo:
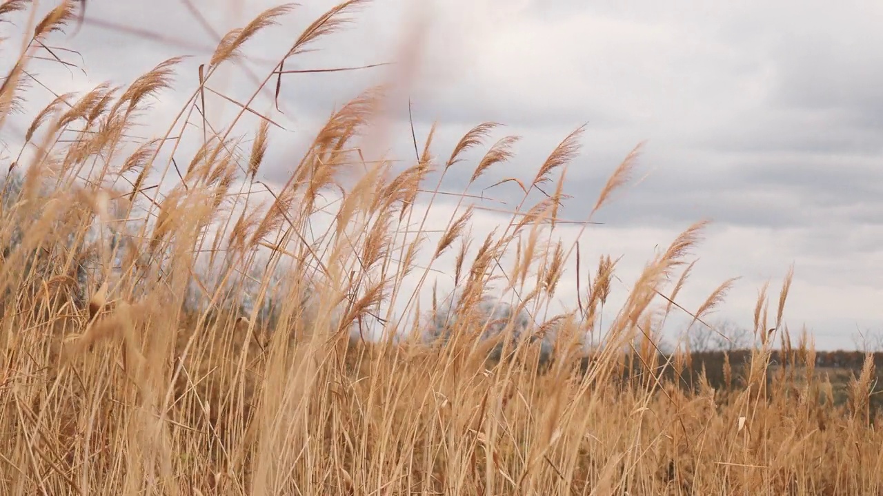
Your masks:
<svg viewBox="0 0 883 496"><path fill-rule="evenodd" d="M317 19L286 58L343 26L358 4ZM36 50L75 22L79 5L64 3L34 19L34 38L0 88L0 119L25 97ZM0 15L26 19L29 8L7 1ZM609 258L600 260L592 287L581 289L575 318L547 319L560 331L558 349L540 372L531 346L487 363L487 345L468 339L479 327L469 319L458 320L457 339L443 349L353 342L351 328L361 319L390 299L408 299L397 294L404 274L424 274L428 290L430 270L416 264L419 252L433 259L458 252L466 314L492 277L516 289L525 308L543 308L578 256L573 246L551 243L551 233L579 131L523 184L526 192L552 183L554 192L533 206L525 205L525 194L511 225L486 239L468 239L468 209L449 220L436 245L399 234L426 229L426 214L415 205L420 191L430 199L440 194L424 184L429 171L470 167L464 152L484 146L494 124L466 133L442 161L430 136L419 160L396 170L359 154L379 91L328 119L268 204L249 200L261 189L255 177L270 117L250 130L253 144L243 151L234 129L255 113L250 103L236 103L224 129L208 126L201 105L215 69L286 11L267 11L223 38L164 136L134 148L125 139L146 101L171 84L177 60L129 86L60 95L34 118L27 154L4 163L23 181L0 218L0 241L11 247L0 262L0 492L883 493L883 434L869 407L872 357L842 405L826 401L831 385L813 371L807 340L783 352L793 366L768 379L774 344L790 342L783 323L790 275L779 296L761 291L757 346L741 372L728 361L714 371L722 374L720 387L701 373L688 374L692 387L683 387L684 371L694 370L689 350L668 360L658 353L660 316L686 312L672 302L703 222L646 264L588 359L565 338L599 326L615 271ZM274 75L262 84L272 89ZM175 154L172 162L184 139L197 139L199 150ZM489 147L473 165L473 180L492 174L513 143ZM592 214L628 181L636 156L614 170ZM354 172L358 180L338 189L340 177ZM311 218L326 207L323 195L335 191L341 193L333 222L317 237ZM87 237L95 225L121 220L136 229L128 242ZM268 259L256 255L260 247ZM200 282L198 253L209 254L222 279L255 264L290 263L293 283L283 289L278 318L260 319L259 305L237 312L236 294ZM505 271L504 253L516 254ZM78 298L81 261L89 256L98 270ZM210 300L200 311L184 304L194 278ZM268 276L257 280L259 300L282 290L270 283ZM693 317L701 321L730 283ZM416 327L386 321L400 331Z"/></svg>

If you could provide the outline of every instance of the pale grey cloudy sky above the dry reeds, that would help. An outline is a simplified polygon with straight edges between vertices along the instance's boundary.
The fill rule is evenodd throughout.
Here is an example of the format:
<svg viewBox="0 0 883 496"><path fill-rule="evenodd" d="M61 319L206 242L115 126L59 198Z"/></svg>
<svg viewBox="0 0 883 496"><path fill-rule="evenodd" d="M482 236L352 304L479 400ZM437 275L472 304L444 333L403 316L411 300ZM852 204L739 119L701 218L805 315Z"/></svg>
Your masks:
<svg viewBox="0 0 883 496"><path fill-rule="evenodd" d="M333 4L307 2L280 19L246 46L250 60L224 72L215 90L250 96L252 78L265 78L303 28ZM155 122L168 124L197 85L195 68L208 62L218 36L275 5L89 0L79 34L53 39L78 50L82 58L68 54L68 60L86 72L49 64L34 71L62 93L105 80L125 84L170 56L192 56L178 71L179 91L155 103ZM851 349L857 332L883 332L881 21L883 4L866 0L376 0L345 31L286 68L399 64L283 80L282 113L273 116L285 130L274 132L262 176L284 180L299 147L336 105L416 60L410 85L391 101L397 121L388 147L397 158L413 158L409 97L421 145L437 124L440 157L485 121L505 124L494 139L522 137L516 157L489 172L485 186L502 177L529 181L557 143L586 124L582 152L568 169L565 192L572 198L562 212L585 220L610 172L645 142L639 181L596 215L603 224L587 228L580 242L588 260L623 256L615 294L622 296L654 250L709 218L684 306L695 309L718 284L741 276L715 318L750 327L758 289L771 282L776 299L793 264L789 327L805 324L821 349ZM255 109L272 108L272 87ZM224 112L229 117L231 109ZM210 117L220 122L224 114ZM154 131L163 129L157 124ZM472 165L460 165L446 191L461 191L471 176ZM497 201L485 207L512 208L520 200L517 187L486 194ZM448 201L434 207L442 222L453 212ZM473 232L482 236L501 222L509 216L481 211ZM558 234L572 241L578 231L570 225ZM562 304L573 306L564 300L574 290L562 289Z"/></svg>

